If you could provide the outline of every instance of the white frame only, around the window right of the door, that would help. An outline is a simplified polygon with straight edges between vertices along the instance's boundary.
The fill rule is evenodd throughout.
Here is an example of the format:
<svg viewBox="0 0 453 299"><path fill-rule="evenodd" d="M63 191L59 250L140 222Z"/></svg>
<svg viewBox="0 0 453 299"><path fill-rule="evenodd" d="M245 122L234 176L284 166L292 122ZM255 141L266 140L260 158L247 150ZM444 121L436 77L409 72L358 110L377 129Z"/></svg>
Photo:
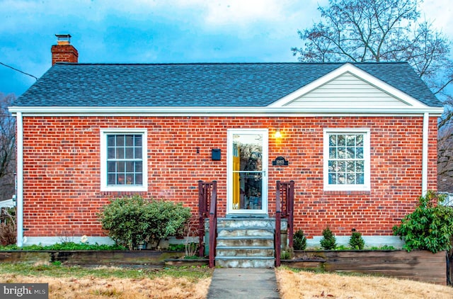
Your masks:
<svg viewBox="0 0 453 299"><path fill-rule="evenodd" d="M329 135L331 134L362 134L363 135L363 159L364 184L328 184L328 158L329 158ZM370 131L368 128L324 128L323 129L323 181L324 191L370 191Z"/></svg>

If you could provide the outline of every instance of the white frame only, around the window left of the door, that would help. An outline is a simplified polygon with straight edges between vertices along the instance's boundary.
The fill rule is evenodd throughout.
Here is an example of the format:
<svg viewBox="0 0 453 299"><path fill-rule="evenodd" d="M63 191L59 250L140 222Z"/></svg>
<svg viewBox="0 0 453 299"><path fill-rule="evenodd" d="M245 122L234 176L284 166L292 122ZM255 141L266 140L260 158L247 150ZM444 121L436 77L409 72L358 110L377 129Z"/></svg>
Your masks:
<svg viewBox="0 0 453 299"><path fill-rule="evenodd" d="M142 186L107 184L107 135L142 135ZM101 130L101 191L147 191L148 190L148 163L147 163L147 129L102 129Z"/></svg>

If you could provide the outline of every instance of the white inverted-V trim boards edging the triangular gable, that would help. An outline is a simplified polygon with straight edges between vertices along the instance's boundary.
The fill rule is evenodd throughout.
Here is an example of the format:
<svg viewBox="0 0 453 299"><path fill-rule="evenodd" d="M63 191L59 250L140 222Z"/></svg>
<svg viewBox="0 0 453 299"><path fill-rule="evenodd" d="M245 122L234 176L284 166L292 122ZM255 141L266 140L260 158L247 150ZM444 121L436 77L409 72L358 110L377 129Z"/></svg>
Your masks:
<svg viewBox="0 0 453 299"><path fill-rule="evenodd" d="M397 98L398 100L402 101L403 103L406 103L410 107L413 107L413 108L428 108L429 107L429 106L425 105L424 103L418 101L416 98L409 96L408 94L404 93L403 91L394 88L390 84L387 84L386 82L384 82L380 79L377 79L377 77L374 77L371 74L368 74L367 72L363 71L362 69L359 69L358 67L355 67L353 64L350 64L349 62L343 64L341 67L338 67L338 69L335 69L332 72L325 74L323 77L320 77L319 79L312 81L311 83L307 84L306 86L303 86L301 89L297 89L297 91L294 91L291 94L288 94L287 96L284 96L283 98L280 98L279 100L271 103L268 107L274 108L274 107L286 106L289 103L291 103L292 101L296 100L297 98L304 96L304 94L307 94L310 91L314 91L315 89L319 88L320 86L323 86L323 84L326 84L347 72L349 72L353 76L357 77L358 79L362 79L363 81L366 81L368 84L376 87L377 89L380 89L380 90L386 92L390 96Z"/></svg>

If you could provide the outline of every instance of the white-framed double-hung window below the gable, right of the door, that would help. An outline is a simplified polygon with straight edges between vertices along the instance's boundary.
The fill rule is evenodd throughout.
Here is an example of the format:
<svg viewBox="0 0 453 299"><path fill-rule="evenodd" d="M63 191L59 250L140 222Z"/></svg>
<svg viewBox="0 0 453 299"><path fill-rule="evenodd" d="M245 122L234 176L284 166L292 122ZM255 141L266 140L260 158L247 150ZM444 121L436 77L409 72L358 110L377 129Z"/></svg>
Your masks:
<svg viewBox="0 0 453 299"><path fill-rule="evenodd" d="M324 190L369 191L369 130L324 129Z"/></svg>

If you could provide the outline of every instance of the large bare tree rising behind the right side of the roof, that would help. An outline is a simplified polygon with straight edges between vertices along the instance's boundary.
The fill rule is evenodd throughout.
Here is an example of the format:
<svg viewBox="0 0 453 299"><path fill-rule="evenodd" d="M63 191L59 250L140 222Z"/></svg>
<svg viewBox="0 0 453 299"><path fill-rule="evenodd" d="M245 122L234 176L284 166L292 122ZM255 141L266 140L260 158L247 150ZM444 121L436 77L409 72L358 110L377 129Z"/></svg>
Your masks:
<svg viewBox="0 0 453 299"><path fill-rule="evenodd" d="M450 41L419 21L423 0L329 0L323 21L299 30L300 62L401 62L413 67L445 105L439 122L439 181L453 191L453 60ZM450 178L452 178L450 180Z"/></svg>

